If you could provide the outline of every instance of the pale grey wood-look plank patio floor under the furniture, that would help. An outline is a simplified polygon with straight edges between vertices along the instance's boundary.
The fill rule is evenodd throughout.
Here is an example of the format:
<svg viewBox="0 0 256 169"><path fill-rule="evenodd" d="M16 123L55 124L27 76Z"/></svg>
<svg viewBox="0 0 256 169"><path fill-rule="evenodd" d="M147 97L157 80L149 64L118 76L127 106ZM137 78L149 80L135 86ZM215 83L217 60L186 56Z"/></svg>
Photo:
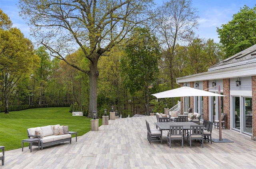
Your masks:
<svg viewBox="0 0 256 169"><path fill-rule="evenodd" d="M192 148L184 141L167 145L167 131L163 132L163 144L147 140L147 120L155 128L155 116L142 116L110 120L99 131L90 131L72 138L72 143L46 147L42 151L28 147L6 151L1 169L170 169L170 168L246 168L256 167L256 141L230 130L222 130L222 138L233 143L208 143L204 148L192 141ZM26 131L24 131L26 132ZM166 132L166 133L165 133ZM213 129L212 138L218 138ZM21 143L21 140L20 140ZM5 145L6 146L6 145ZM28 146L28 145L26 145Z"/></svg>

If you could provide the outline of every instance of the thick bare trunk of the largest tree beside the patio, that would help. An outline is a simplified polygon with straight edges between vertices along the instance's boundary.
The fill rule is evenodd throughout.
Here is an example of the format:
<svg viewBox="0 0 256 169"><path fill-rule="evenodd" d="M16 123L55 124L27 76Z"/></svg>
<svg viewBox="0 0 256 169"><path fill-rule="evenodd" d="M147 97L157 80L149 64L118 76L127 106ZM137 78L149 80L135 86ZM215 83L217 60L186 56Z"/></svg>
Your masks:
<svg viewBox="0 0 256 169"><path fill-rule="evenodd" d="M90 80L90 108L88 113L88 118L92 118L93 111L97 111L97 80L99 76L99 72L97 69L97 61L90 63L90 71L89 71L89 80ZM98 118L98 114L96 115Z"/></svg>

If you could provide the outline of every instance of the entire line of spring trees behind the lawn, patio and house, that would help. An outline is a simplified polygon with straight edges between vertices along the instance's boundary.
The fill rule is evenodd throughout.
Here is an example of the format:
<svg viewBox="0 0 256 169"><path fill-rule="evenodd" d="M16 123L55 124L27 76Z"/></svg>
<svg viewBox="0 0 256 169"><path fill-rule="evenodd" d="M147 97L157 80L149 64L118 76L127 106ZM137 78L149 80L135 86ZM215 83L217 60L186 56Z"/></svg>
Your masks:
<svg viewBox="0 0 256 169"><path fill-rule="evenodd" d="M176 88L177 77L205 72L234 54L225 51L229 40L218 44L194 34L198 16L191 0L158 8L152 0L112 1L20 0L37 49L0 10L0 106L6 113L9 104L59 103L88 117L112 105L123 116L148 115L153 104L161 112L177 100L159 102L151 94ZM241 8L246 12L256 13ZM217 29L220 37L226 25Z"/></svg>

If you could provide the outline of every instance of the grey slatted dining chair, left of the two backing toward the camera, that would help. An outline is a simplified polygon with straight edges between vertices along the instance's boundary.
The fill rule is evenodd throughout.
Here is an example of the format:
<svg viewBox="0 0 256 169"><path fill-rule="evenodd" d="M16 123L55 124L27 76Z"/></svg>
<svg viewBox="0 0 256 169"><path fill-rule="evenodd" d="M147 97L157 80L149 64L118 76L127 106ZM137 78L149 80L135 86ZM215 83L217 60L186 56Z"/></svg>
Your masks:
<svg viewBox="0 0 256 169"><path fill-rule="evenodd" d="M170 126L170 130L167 136L167 145L170 145L171 148L171 140L180 140L183 148L183 126Z"/></svg>

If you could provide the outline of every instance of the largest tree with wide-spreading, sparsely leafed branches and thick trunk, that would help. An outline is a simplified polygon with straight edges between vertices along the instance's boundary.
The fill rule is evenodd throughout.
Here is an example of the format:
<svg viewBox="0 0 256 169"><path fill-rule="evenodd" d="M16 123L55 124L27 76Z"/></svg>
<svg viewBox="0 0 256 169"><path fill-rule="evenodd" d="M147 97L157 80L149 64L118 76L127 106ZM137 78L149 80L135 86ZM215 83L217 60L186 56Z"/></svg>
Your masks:
<svg viewBox="0 0 256 169"><path fill-rule="evenodd" d="M30 19L34 37L52 56L88 74L88 117L97 110L98 59L135 26L144 24L152 5L153 0L20 0L21 14ZM65 57L78 47L90 60L89 70Z"/></svg>

